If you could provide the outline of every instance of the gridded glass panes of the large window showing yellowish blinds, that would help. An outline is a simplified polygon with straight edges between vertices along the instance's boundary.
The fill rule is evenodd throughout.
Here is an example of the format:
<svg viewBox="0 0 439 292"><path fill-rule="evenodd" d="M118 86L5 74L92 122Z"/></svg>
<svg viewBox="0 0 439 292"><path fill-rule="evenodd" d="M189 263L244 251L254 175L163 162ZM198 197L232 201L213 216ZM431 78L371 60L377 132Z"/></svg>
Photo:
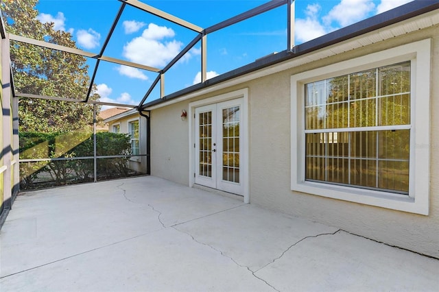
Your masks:
<svg viewBox="0 0 439 292"><path fill-rule="evenodd" d="M410 62L305 84L305 179L408 195Z"/></svg>

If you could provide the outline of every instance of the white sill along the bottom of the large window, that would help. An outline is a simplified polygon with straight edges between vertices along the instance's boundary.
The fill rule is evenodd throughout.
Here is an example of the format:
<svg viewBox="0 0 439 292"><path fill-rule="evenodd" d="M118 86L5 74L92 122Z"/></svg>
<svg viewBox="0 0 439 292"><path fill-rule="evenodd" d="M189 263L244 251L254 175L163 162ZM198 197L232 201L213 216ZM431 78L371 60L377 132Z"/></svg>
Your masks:
<svg viewBox="0 0 439 292"><path fill-rule="evenodd" d="M292 185L292 191L392 210L412 212L420 215L428 215L429 211L428 204L423 204L423 202L420 202L420 199L416 200L414 197L408 195L372 191L350 186L337 186L305 181Z"/></svg>

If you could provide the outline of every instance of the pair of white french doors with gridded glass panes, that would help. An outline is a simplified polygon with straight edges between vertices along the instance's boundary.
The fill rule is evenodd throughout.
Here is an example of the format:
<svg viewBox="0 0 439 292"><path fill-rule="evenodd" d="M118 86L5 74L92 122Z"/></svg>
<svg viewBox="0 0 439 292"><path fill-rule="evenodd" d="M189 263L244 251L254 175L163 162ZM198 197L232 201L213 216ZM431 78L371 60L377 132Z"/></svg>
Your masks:
<svg viewBox="0 0 439 292"><path fill-rule="evenodd" d="M195 184L244 195L242 108L243 99L195 108Z"/></svg>

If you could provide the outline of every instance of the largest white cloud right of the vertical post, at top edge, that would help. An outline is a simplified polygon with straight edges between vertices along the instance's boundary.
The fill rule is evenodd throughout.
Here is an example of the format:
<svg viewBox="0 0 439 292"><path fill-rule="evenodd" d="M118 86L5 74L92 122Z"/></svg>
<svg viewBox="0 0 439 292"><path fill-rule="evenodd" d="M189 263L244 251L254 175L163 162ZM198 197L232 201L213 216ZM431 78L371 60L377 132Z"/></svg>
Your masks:
<svg viewBox="0 0 439 292"><path fill-rule="evenodd" d="M327 25L335 21L345 27L366 19L366 16L374 9L375 4L372 0L342 0L323 17L323 21Z"/></svg>

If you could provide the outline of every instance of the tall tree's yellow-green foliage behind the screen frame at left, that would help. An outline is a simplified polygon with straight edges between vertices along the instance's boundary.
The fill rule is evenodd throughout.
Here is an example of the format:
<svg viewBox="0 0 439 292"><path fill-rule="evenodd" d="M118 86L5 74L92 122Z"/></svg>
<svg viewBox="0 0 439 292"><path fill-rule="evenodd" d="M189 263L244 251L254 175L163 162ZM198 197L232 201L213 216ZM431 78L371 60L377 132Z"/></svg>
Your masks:
<svg viewBox="0 0 439 292"><path fill-rule="evenodd" d="M69 32L54 29L54 23L38 21L38 0L2 0L1 12L7 32L75 48ZM19 93L85 99L90 78L83 56L11 41L14 85ZM95 90L93 90L95 91ZM92 100L99 95L91 96ZM21 98L20 131L58 132L89 128L93 106L69 101Z"/></svg>

